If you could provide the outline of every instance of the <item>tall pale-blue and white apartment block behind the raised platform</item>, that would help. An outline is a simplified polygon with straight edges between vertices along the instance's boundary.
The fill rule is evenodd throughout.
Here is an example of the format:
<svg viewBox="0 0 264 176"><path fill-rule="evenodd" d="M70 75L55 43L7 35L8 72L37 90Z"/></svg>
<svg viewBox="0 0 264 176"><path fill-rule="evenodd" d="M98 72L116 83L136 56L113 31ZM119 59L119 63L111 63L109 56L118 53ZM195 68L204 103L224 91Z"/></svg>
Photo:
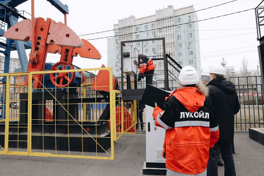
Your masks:
<svg viewBox="0 0 264 176"><path fill-rule="evenodd" d="M114 37L108 39L108 67L113 67L113 74L121 76L120 41L165 37L166 54L169 54L182 67L191 65L201 73L199 28L194 7L189 6L174 10L173 6L156 10L156 14L135 19L134 16L121 19L114 25ZM132 33L132 34L131 34ZM163 57L162 41L127 43L138 49L140 54L150 58ZM154 81L164 80L163 61L154 61L156 72ZM175 73L172 67L168 69Z"/></svg>

